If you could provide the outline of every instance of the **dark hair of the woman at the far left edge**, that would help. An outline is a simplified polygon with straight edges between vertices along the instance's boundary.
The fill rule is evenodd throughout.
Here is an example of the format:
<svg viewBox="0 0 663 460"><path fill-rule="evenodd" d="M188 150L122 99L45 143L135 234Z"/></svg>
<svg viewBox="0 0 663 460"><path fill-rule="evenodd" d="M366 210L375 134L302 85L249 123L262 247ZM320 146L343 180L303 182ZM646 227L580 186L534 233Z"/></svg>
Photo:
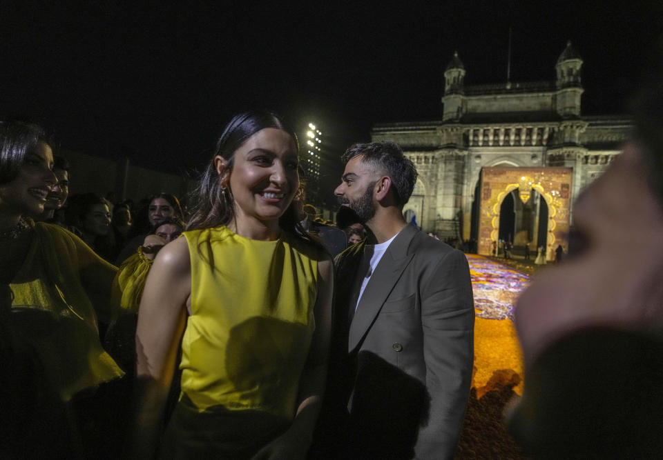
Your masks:
<svg viewBox="0 0 663 460"><path fill-rule="evenodd" d="M16 179L26 154L39 142L51 144L41 126L17 120L0 121L0 183Z"/></svg>

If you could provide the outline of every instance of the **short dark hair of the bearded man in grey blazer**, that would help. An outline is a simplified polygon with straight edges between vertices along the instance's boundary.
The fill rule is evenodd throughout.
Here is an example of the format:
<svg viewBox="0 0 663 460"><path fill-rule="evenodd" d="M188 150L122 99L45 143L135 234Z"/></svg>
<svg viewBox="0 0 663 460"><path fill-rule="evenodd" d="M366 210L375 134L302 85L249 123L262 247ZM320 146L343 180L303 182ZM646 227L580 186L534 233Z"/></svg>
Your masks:
<svg viewBox="0 0 663 460"><path fill-rule="evenodd" d="M392 179L394 199L403 208L414 190L417 174L414 163L405 157L401 146L390 141L355 143L345 151L343 161L347 163L359 156L377 170L387 172Z"/></svg>

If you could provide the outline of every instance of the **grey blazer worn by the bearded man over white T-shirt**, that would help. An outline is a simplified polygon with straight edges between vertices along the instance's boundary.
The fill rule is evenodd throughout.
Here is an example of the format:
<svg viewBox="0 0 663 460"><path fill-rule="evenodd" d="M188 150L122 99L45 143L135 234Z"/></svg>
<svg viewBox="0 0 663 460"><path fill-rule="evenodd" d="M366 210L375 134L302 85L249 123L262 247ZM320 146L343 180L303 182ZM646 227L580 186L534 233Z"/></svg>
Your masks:
<svg viewBox="0 0 663 460"><path fill-rule="evenodd" d="M468 261L407 225L354 312L364 249L360 243L336 258L333 347L345 356L332 355L330 390L338 397L346 388L347 457L450 459L474 358Z"/></svg>

